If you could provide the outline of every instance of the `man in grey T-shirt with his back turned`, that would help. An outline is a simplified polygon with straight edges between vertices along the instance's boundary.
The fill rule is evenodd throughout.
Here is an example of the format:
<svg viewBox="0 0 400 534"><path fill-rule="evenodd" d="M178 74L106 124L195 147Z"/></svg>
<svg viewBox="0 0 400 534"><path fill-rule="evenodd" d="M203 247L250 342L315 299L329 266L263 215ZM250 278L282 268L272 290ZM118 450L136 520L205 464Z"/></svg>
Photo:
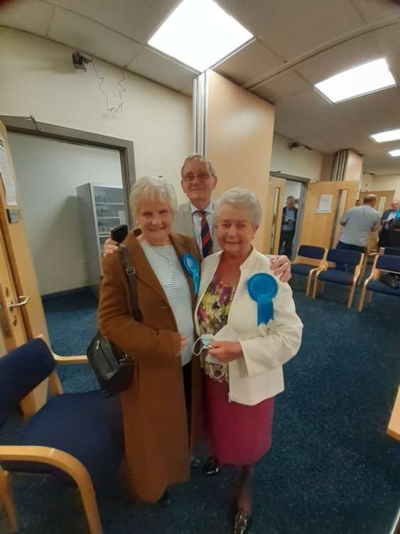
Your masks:
<svg viewBox="0 0 400 534"><path fill-rule="evenodd" d="M369 232L375 231L379 227L381 217L379 212L374 209L376 205L377 196L367 194L362 206L354 206L345 211L340 219L343 229L336 245L337 249L365 252ZM336 268L339 271L347 271L350 266L346 266L345 263L336 263Z"/></svg>

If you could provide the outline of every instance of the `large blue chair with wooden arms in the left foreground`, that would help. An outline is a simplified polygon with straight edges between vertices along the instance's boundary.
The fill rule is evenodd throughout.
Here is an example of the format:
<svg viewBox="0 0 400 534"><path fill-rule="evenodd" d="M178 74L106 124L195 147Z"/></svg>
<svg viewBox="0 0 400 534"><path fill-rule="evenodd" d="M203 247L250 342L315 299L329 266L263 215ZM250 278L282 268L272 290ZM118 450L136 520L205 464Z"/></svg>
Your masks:
<svg viewBox="0 0 400 534"><path fill-rule="evenodd" d="M23 425L16 444L0 445L0 497L16 530L9 473L72 478L90 533L100 534L94 488L115 480L124 454L119 397L104 397L101 391L61 394L53 353L43 340L31 340L0 358L0 429L21 399L47 377L53 397Z"/></svg>

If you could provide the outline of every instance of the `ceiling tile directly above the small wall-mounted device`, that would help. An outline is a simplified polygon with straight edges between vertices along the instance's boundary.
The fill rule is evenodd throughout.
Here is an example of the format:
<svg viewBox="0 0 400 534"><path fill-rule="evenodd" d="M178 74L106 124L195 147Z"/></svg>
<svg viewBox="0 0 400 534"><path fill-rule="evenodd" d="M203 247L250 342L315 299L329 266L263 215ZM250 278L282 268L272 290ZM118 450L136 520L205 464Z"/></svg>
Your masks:
<svg viewBox="0 0 400 534"><path fill-rule="evenodd" d="M119 66L128 65L143 48L119 33L60 8L55 11L49 36Z"/></svg>

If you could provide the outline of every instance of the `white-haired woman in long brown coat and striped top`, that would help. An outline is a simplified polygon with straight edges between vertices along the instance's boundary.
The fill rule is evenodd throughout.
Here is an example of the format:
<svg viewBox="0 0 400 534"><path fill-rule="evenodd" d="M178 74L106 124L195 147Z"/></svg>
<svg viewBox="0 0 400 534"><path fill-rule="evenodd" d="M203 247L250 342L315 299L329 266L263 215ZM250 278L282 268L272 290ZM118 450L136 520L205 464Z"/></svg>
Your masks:
<svg viewBox="0 0 400 534"><path fill-rule="evenodd" d="M136 269L139 308L129 312L129 287L119 254L103 261L99 328L134 357L134 380L121 393L126 466L136 496L158 501L171 483L189 478L190 449L202 435L202 375L194 342L194 278L182 266L200 264L195 239L171 234L177 206L172 185L143 178L131 190L140 230L124 245Z"/></svg>

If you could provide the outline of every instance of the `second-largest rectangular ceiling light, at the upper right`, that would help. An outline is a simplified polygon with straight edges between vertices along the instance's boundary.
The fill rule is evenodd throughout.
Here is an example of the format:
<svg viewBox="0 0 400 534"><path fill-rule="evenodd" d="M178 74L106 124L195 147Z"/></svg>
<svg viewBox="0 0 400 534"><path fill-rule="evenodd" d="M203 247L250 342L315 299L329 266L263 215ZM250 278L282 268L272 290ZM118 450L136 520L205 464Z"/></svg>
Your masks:
<svg viewBox="0 0 400 534"><path fill-rule="evenodd" d="M396 80L391 75L386 59L381 58L335 74L323 82L316 83L314 87L331 102L337 103L394 85Z"/></svg>

